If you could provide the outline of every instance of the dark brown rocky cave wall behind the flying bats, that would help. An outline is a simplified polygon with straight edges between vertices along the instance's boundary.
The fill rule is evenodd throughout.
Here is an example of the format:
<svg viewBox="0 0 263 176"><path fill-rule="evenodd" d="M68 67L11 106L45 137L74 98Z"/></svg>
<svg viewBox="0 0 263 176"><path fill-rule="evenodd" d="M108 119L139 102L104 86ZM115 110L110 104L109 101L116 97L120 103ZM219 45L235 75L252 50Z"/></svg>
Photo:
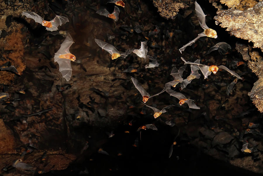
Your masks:
<svg viewBox="0 0 263 176"><path fill-rule="evenodd" d="M96 14L94 9L103 6L109 11L113 9L114 4L104 1L26 1L23 6L18 6L19 1L2 2L8 6L6 14L13 15L7 18L1 13L0 20L5 19L6 25L1 28L0 65L10 61L19 73L0 71L1 90L10 96L0 102L2 175L222 175L222 170L238 175L262 173L262 119L248 96L257 80L248 68L259 73L261 67L253 66L256 62L253 58L259 61L261 57L256 53L252 56L253 52L248 50L248 60L255 62L237 66L233 61L246 58L237 52L238 48L226 55L213 51L203 56L218 42L235 48L238 41L214 25L215 11L208 1L200 5L207 15L207 25L219 37L200 38L181 55L178 49L203 30L192 13L193 4L187 4L188 9L179 11L176 18L173 16L176 9L171 11L169 18L174 19L165 20L154 8L159 2L126 2L125 8L120 7L117 22ZM61 31L68 30L75 42L70 52L77 59L71 62L69 82L53 61L63 36L53 35L34 20L22 17L22 11L35 11L48 20L56 14L70 19L59 27ZM121 52L139 48L141 41L148 41L148 53L160 65L145 69L149 59L135 54L125 60L111 60L94 38L114 45ZM183 90L174 89L193 99L200 110L180 106L177 98L167 93L153 97L147 102L150 106L175 105L154 119L153 111L141 103L142 97L130 76L153 95L172 81L169 75L172 67L184 65L181 56L191 62L201 59L203 64L225 65L243 79L238 80L229 95L226 88L234 78L223 70L208 79L193 80ZM129 67L137 71L123 72ZM187 67L183 76L190 72ZM175 125L169 126L167 121ZM248 133L250 122L259 126ZM137 132L140 126L150 123L158 130ZM115 135L109 138L106 132L111 131ZM241 152L243 142L247 141L249 148L255 148L252 153ZM173 142L176 144L172 145L173 153L168 158ZM18 159L32 169L13 167Z"/></svg>

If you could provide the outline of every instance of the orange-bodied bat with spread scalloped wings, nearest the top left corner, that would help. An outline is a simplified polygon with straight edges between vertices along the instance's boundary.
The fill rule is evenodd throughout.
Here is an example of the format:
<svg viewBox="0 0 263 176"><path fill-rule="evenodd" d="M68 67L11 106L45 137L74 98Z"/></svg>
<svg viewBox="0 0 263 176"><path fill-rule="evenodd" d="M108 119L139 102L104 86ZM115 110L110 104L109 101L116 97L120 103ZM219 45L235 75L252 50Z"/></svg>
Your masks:
<svg viewBox="0 0 263 176"><path fill-rule="evenodd" d="M23 12L22 16L25 15L27 18L32 18L35 22L40 23L42 26L46 27L48 31L56 31L58 30L58 26L69 22L68 18L56 15L56 17L51 21L44 20L41 16L37 15L34 12Z"/></svg>

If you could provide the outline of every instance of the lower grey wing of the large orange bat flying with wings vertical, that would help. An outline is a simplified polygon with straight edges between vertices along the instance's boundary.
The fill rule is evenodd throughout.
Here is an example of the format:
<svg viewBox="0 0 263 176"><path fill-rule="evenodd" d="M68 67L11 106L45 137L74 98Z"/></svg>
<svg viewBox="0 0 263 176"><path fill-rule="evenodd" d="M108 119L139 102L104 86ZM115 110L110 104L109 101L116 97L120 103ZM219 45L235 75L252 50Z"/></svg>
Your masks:
<svg viewBox="0 0 263 176"><path fill-rule="evenodd" d="M70 59L59 58L56 62L58 62L59 71L62 73L63 78L69 81L72 75Z"/></svg>

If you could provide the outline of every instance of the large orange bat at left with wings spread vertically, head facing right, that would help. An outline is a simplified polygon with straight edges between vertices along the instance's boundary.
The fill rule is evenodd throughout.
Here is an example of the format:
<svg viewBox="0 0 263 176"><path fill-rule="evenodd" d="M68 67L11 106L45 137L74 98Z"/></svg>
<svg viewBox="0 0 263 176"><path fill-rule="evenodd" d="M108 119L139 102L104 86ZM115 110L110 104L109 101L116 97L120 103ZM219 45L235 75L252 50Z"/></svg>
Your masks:
<svg viewBox="0 0 263 176"><path fill-rule="evenodd" d="M72 75L71 61L76 60L76 56L69 51L70 46L74 43L72 37L68 33L66 39L61 44L57 53L54 56L54 62L59 65L59 71L62 73L63 78L67 81L70 80Z"/></svg>

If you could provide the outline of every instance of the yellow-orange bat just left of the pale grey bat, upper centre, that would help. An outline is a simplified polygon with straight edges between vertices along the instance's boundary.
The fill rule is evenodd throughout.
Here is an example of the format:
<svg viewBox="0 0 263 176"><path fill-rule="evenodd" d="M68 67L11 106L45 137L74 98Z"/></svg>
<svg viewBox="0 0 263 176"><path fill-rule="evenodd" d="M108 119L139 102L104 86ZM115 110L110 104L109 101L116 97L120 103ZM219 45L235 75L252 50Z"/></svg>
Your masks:
<svg viewBox="0 0 263 176"><path fill-rule="evenodd" d="M114 46L99 39L95 39L95 42L103 50L110 53L112 60L117 59L118 57L123 57L125 59L127 55L131 53L129 50L126 53L120 53Z"/></svg>

